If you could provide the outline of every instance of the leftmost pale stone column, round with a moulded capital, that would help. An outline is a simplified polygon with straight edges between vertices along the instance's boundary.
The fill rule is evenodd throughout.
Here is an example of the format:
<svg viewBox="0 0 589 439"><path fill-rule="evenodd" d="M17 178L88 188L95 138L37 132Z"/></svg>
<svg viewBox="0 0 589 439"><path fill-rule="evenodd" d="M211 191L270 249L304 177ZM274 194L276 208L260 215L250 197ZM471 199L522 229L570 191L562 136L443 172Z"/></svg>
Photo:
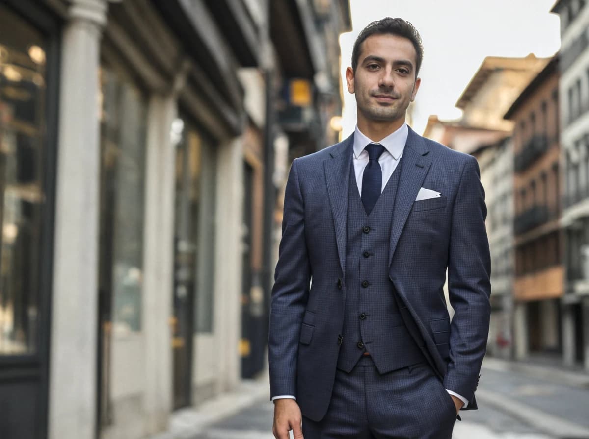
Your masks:
<svg viewBox="0 0 589 439"><path fill-rule="evenodd" d="M70 1L62 40L49 438L94 439L100 143L98 66L105 0Z"/></svg>

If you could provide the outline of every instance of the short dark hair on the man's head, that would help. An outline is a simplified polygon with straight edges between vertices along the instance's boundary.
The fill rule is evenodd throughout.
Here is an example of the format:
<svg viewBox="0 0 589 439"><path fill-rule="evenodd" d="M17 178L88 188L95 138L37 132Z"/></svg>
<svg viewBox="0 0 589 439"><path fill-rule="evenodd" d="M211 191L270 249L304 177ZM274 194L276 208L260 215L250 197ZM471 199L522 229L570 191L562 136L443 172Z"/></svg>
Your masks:
<svg viewBox="0 0 589 439"><path fill-rule="evenodd" d="M411 41L415 48L415 53L417 53L417 65L415 66L415 77L417 78L419 68L421 68L421 61L423 59L421 36L411 23L402 18L386 17L379 21L373 21L362 29L362 32L360 32L358 38L356 38L352 51L352 70L355 72L356 67L358 67L358 58L360 57L360 50L364 40L372 35L386 34L402 36Z"/></svg>

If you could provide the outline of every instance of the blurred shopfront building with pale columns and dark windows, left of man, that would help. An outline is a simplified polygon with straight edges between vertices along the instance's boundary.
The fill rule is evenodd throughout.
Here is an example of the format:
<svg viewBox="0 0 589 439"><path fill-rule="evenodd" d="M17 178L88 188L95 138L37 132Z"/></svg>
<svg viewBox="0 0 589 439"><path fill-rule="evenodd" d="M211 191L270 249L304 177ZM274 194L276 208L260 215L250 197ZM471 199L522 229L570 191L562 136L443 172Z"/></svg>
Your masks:
<svg viewBox="0 0 589 439"><path fill-rule="evenodd" d="M2 439L148 437L263 369L289 148L339 134L349 27L345 1L0 1Z"/></svg>

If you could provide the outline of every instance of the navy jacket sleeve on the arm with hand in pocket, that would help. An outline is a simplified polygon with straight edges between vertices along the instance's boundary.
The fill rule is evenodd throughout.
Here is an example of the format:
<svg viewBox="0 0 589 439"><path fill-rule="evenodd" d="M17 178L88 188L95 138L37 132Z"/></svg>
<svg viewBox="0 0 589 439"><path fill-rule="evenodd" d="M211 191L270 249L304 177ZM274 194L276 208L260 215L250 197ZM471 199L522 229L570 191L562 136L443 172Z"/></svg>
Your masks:
<svg viewBox="0 0 589 439"><path fill-rule="evenodd" d="M491 256L485 230L485 191L474 157L469 156L462 169L452 209L448 293L455 314L444 386L467 398L472 405L469 408L476 408L474 392L487 350L491 314Z"/></svg>

